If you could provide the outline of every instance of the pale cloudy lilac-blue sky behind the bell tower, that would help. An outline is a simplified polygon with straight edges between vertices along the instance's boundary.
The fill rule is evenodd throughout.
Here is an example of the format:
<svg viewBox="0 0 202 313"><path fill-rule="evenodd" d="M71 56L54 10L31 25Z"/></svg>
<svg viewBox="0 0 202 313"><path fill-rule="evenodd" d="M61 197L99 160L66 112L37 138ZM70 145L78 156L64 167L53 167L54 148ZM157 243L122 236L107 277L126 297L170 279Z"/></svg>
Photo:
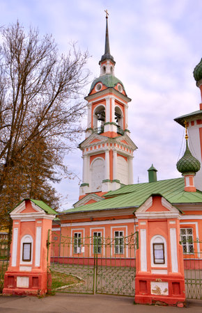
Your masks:
<svg viewBox="0 0 202 313"><path fill-rule="evenodd" d="M0 0L0 5L1 25L19 19L25 28L31 24L41 34L52 33L63 53L71 41L88 49L90 81L100 74L107 9L115 75L132 98L128 124L138 147L134 183L148 181L151 163L158 179L180 177L176 162L185 146L184 129L173 118L198 110L201 102L192 74L202 57L201 0ZM81 178L79 150L65 163ZM64 209L77 202L78 179L63 179L56 189L68 194Z"/></svg>

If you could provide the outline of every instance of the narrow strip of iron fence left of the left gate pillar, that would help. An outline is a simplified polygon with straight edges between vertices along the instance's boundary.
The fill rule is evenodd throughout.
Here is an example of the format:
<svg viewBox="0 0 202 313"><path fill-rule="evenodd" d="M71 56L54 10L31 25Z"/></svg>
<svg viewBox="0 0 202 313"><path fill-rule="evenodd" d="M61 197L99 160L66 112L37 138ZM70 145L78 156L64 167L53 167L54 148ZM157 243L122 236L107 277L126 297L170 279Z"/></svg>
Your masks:
<svg viewBox="0 0 202 313"><path fill-rule="evenodd" d="M0 293L3 290L4 274L9 262L8 240L0 240Z"/></svg>

